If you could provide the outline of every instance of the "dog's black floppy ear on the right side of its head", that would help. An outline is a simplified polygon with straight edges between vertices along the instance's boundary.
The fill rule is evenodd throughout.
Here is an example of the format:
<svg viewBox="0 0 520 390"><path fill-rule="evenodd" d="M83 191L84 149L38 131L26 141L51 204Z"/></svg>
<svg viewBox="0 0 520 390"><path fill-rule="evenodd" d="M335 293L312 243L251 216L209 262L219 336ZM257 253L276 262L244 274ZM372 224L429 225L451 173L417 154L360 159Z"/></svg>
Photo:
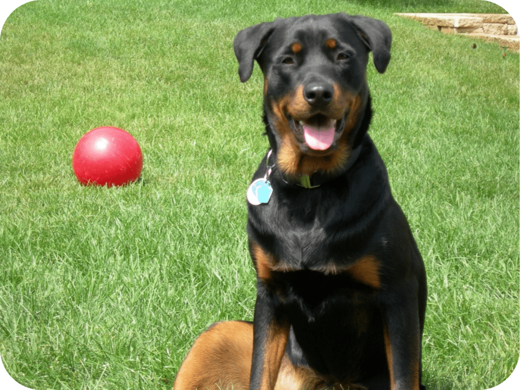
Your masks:
<svg viewBox="0 0 520 390"><path fill-rule="evenodd" d="M390 62L390 47L392 46L392 32L388 25L381 20L366 16L356 15L350 18L365 45L372 50L375 69L379 73L384 73Z"/></svg>

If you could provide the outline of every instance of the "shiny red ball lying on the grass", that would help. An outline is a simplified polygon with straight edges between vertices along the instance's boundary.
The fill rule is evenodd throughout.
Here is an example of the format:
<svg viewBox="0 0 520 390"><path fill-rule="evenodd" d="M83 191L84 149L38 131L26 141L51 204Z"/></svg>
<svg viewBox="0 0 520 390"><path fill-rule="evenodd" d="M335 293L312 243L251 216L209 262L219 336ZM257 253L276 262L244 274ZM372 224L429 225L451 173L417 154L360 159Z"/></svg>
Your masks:
<svg viewBox="0 0 520 390"><path fill-rule="evenodd" d="M122 186L141 175L141 148L134 137L120 128L98 127L77 142L72 168L82 184Z"/></svg>

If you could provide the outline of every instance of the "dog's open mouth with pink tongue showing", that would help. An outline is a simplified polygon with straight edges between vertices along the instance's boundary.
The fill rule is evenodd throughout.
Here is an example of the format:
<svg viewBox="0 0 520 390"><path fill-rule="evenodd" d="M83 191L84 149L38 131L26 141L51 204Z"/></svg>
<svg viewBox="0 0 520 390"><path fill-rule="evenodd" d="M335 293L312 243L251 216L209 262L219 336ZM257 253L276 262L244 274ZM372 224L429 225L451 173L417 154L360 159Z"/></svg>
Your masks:
<svg viewBox="0 0 520 390"><path fill-rule="evenodd" d="M340 138L345 127L345 118L337 121L323 114L316 114L302 121L295 120L290 115L288 117L298 141L309 149L318 151L334 149L335 141Z"/></svg>

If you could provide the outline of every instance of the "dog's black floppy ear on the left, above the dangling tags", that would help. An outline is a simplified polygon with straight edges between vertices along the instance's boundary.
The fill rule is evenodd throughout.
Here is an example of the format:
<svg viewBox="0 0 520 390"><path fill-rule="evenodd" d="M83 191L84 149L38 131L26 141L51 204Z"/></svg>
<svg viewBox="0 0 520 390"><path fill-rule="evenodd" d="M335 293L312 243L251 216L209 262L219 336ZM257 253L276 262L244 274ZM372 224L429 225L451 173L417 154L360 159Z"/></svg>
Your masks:
<svg viewBox="0 0 520 390"><path fill-rule="evenodd" d="M254 60L262 53L269 35L275 30L275 22L253 25L240 31L235 37L233 48L238 60L240 81L245 83L253 73Z"/></svg>

